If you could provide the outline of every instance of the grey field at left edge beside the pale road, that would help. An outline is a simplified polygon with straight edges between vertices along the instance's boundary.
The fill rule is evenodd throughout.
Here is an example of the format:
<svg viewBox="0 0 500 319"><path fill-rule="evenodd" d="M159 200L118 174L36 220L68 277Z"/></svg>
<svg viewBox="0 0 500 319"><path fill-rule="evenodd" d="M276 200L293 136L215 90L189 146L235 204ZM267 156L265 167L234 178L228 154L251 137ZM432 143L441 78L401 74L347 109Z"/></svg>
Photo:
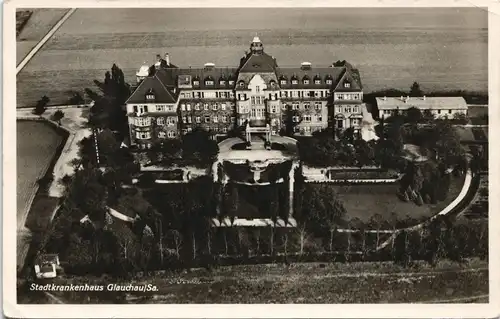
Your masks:
<svg viewBox="0 0 500 319"><path fill-rule="evenodd" d="M49 169L64 138L50 125L17 121L17 221L22 227L35 196L37 181Z"/></svg>

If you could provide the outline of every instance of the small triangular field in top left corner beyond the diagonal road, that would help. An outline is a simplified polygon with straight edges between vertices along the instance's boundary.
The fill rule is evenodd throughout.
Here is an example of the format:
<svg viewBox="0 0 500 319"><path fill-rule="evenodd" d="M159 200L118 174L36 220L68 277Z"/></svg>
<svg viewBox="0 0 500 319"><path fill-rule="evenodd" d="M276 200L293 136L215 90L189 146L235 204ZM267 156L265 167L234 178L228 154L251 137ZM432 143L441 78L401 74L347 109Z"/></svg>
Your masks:
<svg viewBox="0 0 500 319"><path fill-rule="evenodd" d="M25 10L25 9L22 9ZM33 14L19 33L16 43L16 65L35 47L68 11L67 9L27 9Z"/></svg>

